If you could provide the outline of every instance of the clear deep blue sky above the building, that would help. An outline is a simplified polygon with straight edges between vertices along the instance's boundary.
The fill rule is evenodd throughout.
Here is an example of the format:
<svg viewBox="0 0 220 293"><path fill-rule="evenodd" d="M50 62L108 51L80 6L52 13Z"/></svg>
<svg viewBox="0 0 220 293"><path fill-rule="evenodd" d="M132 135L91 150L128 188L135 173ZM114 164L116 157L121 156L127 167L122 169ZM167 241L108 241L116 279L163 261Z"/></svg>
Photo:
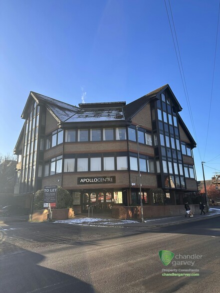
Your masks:
<svg viewBox="0 0 220 293"><path fill-rule="evenodd" d="M188 95L164 0L0 0L0 153L13 152L30 91L76 106L130 103L168 83L199 146L197 179L201 161L206 179L220 173L220 0L170 4Z"/></svg>

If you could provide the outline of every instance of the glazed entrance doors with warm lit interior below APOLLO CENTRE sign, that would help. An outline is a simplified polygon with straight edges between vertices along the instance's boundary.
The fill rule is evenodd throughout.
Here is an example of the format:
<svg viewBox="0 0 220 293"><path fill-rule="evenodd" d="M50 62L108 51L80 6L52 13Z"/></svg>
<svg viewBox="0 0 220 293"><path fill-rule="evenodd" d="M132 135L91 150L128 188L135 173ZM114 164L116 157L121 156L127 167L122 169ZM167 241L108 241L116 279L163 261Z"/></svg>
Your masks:
<svg viewBox="0 0 220 293"><path fill-rule="evenodd" d="M82 191L82 211L88 211L89 206L93 206L95 210L111 209L114 202L113 190L90 190Z"/></svg>

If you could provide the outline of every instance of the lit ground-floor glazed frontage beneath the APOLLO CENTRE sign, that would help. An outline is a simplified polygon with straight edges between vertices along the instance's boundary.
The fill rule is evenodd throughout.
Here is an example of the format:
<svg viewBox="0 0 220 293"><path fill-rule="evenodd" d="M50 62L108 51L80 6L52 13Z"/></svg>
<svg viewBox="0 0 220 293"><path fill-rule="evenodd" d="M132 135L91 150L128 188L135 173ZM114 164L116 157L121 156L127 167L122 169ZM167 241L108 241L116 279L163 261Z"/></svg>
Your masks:
<svg viewBox="0 0 220 293"><path fill-rule="evenodd" d="M121 190L81 190L73 191L73 206L81 205L82 211L88 211L90 206L94 210L111 209L112 205L123 204Z"/></svg>

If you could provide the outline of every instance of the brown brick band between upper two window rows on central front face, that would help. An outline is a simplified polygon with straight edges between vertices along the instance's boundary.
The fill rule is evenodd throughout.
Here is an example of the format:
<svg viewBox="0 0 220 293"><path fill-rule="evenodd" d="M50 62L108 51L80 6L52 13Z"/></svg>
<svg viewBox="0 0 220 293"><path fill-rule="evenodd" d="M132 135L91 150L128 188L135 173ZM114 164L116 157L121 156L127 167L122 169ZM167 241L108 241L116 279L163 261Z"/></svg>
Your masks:
<svg viewBox="0 0 220 293"><path fill-rule="evenodd" d="M64 153L127 151L127 141L65 143Z"/></svg>

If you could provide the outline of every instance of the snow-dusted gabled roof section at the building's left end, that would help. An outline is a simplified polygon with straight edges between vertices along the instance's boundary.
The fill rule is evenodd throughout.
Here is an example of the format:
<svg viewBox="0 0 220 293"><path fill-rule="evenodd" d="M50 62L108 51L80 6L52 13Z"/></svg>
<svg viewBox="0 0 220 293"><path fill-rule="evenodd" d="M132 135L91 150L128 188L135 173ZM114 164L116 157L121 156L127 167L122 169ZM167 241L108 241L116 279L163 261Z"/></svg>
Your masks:
<svg viewBox="0 0 220 293"><path fill-rule="evenodd" d="M72 106L70 104L31 91L21 115L22 118L26 117L26 112L28 111L28 105L31 98L33 98L37 104L44 105L58 122L65 121L80 110L76 106Z"/></svg>

